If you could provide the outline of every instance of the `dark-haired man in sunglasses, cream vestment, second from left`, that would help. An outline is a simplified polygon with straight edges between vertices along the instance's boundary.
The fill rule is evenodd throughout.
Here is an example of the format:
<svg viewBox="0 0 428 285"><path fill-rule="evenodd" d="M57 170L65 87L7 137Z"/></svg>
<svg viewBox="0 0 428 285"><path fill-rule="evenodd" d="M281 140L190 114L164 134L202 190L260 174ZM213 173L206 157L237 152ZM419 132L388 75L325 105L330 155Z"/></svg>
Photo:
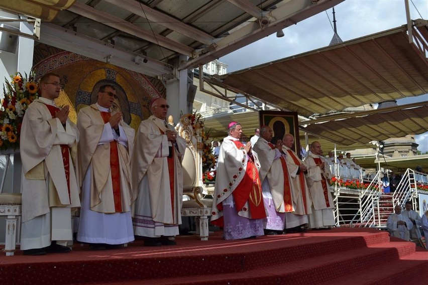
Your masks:
<svg viewBox="0 0 428 285"><path fill-rule="evenodd" d="M111 110L115 99L115 87L103 85L96 103L77 117L82 187L77 240L94 250L134 240L130 159L135 130L122 120L122 112Z"/></svg>

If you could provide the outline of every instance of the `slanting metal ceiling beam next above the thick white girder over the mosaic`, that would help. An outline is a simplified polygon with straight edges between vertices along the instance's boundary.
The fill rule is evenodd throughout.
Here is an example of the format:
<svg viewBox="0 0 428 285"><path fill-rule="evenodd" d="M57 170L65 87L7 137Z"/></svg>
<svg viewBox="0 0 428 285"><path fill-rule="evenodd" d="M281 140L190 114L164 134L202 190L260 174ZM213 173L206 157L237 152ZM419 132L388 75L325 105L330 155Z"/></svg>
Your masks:
<svg viewBox="0 0 428 285"><path fill-rule="evenodd" d="M189 57L194 56L194 50L186 45L177 43L171 39L168 39L160 35L154 35L150 31L137 27L123 19L117 18L108 13L98 11L80 2L74 3L74 5L72 5L67 10L77 15L81 15L85 18L91 19L95 22L99 22L103 25L109 26L113 29L121 30L130 35L152 42L166 49L175 51L177 53L180 53Z"/></svg>

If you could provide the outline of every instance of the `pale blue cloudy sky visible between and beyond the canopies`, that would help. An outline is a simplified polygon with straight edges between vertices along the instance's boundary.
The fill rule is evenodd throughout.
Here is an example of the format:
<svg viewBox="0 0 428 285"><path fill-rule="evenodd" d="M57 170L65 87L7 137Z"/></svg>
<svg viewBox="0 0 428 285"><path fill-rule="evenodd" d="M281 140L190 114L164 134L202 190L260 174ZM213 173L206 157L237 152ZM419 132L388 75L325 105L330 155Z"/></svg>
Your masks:
<svg viewBox="0 0 428 285"><path fill-rule="evenodd" d="M406 24L404 0L346 0L335 7L338 34L345 42ZM409 0L410 18L428 19L428 0ZM330 18L330 19L329 19ZM228 72L326 47L333 37L332 9L230 53L219 60ZM428 101L428 95L398 100L399 105ZM428 152L428 132L416 136L418 150Z"/></svg>

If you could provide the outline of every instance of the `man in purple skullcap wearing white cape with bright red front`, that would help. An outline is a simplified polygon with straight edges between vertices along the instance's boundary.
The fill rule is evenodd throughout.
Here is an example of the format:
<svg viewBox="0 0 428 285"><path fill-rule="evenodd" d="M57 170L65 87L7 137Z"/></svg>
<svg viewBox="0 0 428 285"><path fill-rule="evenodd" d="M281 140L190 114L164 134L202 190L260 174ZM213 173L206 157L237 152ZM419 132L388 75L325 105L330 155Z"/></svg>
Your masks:
<svg viewBox="0 0 428 285"><path fill-rule="evenodd" d="M263 235L263 219L267 215L260 162L251 151L251 142L240 142L240 123L230 122L228 134L220 147L211 223L223 227L223 237L228 240Z"/></svg>

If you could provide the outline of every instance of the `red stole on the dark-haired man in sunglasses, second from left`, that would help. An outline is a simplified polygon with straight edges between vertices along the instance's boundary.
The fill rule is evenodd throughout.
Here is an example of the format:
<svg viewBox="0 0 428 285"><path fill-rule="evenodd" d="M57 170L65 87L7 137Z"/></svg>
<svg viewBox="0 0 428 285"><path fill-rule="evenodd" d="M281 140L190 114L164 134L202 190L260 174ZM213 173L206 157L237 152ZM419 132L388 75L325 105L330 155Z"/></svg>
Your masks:
<svg viewBox="0 0 428 285"><path fill-rule="evenodd" d="M112 114L110 112L100 112L104 123L108 123ZM115 202L115 212L122 212L121 195L121 170L119 167L118 143L116 140L110 141L110 170L112 173L113 200Z"/></svg>

